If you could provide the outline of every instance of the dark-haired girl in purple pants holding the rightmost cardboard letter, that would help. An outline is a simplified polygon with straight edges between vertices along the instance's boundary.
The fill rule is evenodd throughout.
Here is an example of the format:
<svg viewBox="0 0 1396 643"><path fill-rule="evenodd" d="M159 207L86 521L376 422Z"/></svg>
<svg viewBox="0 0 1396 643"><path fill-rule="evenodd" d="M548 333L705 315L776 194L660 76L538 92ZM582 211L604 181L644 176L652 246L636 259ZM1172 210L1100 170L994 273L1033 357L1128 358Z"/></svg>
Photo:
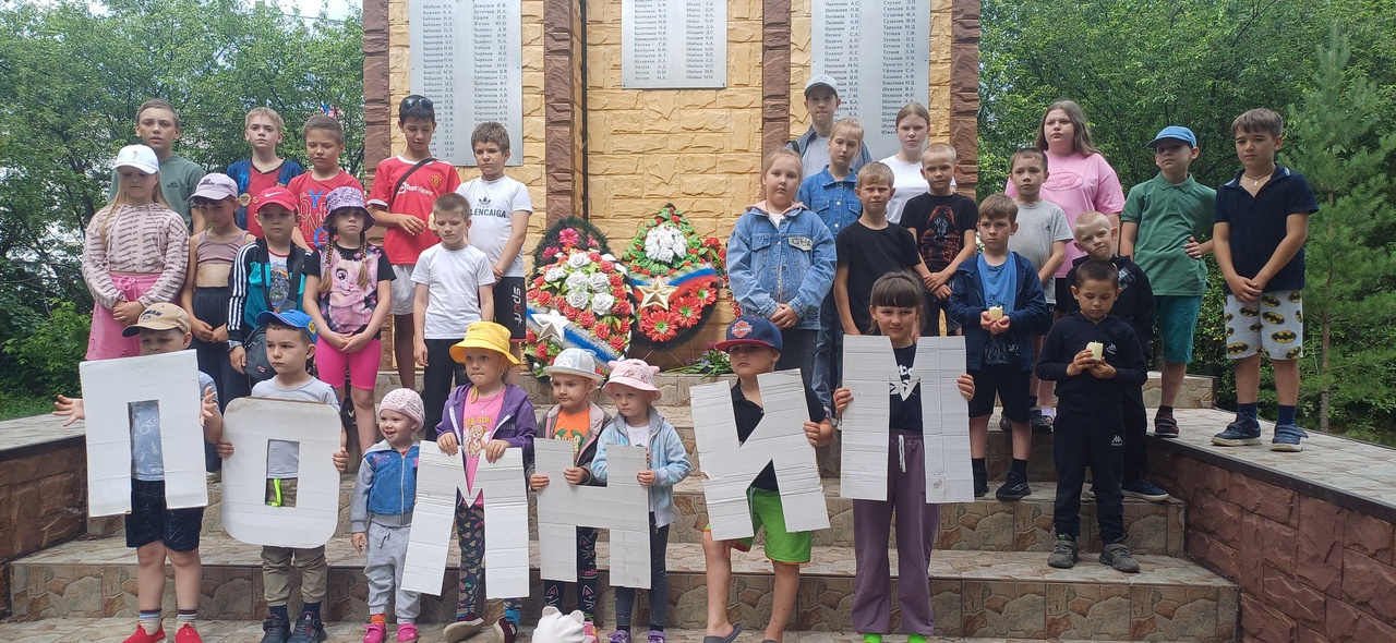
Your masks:
<svg viewBox="0 0 1396 643"><path fill-rule="evenodd" d="M924 289L907 272L889 272L872 285L868 311L877 322L877 335L892 340L892 353L902 385L912 386L916 367L916 335L921 328ZM974 379L960 375L960 395L974 396ZM864 643L882 643L892 628L892 570L886 540L896 512L896 551L900 575L898 600L902 604L902 630L909 643L926 643L935 635L931 610L931 582L926 575L931 550L941 530L941 505L926 502L926 444L923 441L921 385L910 392L892 391L891 448L885 501L853 501L853 540L857 557L857 586L853 591L853 629ZM842 413L853 393L840 388L833 404Z"/></svg>

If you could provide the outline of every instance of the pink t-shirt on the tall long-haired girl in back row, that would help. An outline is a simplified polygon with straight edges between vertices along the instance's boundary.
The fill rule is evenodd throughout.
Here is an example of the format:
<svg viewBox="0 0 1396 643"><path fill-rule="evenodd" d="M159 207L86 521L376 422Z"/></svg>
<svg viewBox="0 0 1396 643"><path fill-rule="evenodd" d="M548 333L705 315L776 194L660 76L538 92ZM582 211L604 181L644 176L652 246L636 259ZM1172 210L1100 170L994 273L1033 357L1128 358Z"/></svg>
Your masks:
<svg viewBox="0 0 1396 643"><path fill-rule="evenodd" d="M1009 180L1004 194L1018 198L1018 188ZM1054 156L1047 153L1047 180L1043 183L1043 201L1057 204L1067 213L1067 223L1076 225L1082 212L1118 215L1125 209L1125 192L1120 188L1120 177L1106 158L1093 153L1082 156ZM1118 218L1117 218L1118 223ZM1057 276L1064 278L1071 271L1071 262L1085 252L1076 244L1067 244L1067 261L1061 262Z"/></svg>

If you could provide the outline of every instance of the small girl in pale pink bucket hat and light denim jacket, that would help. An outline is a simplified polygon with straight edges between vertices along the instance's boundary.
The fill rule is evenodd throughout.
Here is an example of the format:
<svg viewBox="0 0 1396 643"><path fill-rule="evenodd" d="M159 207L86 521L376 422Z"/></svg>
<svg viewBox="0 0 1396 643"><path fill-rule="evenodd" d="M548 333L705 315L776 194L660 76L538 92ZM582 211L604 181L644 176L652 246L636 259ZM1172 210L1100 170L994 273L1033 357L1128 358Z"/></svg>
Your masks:
<svg viewBox="0 0 1396 643"><path fill-rule="evenodd" d="M616 418L602 432L592 471L606 481L606 453L610 446L644 445L649 469L639 471L639 484L649 487L649 633L646 643L664 643L664 616L669 612L669 572L664 550L669 524L678 516L674 485L688 477L688 452L678 431L655 409L660 392L655 388L652 367L644 360L611 361L611 377L604 392L616 400ZM635 608L635 590L616 587L616 632L610 643L631 643L630 616Z"/></svg>

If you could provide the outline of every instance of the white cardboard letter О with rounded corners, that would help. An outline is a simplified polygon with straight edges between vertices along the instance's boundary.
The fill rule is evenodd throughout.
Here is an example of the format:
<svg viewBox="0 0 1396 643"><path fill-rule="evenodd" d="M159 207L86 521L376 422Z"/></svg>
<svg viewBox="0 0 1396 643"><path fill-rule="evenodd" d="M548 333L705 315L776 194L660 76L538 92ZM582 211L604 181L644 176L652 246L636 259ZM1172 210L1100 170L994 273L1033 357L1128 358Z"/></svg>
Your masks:
<svg viewBox="0 0 1396 643"><path fill-rule="evenodd" d="M250 545L320 547L339 524L339 413L317 402L239 398L223 413L223 529ZM267 505L267 444L300 444L296 506Z"/></svg>

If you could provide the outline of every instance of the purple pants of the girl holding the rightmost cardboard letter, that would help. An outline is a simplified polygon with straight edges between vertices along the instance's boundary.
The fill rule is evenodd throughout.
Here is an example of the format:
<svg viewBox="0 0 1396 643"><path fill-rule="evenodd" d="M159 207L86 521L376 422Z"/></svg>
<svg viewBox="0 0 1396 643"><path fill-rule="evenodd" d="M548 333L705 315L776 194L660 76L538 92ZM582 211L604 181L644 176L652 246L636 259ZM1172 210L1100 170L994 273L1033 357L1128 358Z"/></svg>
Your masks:
<svg viewBox="0 0 1396 643"><path fill-rule="evenodd" d="M931 579L927 568L941 529L941 505L926 504L926 445L921 435L892 430L888 449L886 501L853 501L853 630L892 633L892 572L888 537L896 512L896 597L902 632L933 636Z"/></svg>

